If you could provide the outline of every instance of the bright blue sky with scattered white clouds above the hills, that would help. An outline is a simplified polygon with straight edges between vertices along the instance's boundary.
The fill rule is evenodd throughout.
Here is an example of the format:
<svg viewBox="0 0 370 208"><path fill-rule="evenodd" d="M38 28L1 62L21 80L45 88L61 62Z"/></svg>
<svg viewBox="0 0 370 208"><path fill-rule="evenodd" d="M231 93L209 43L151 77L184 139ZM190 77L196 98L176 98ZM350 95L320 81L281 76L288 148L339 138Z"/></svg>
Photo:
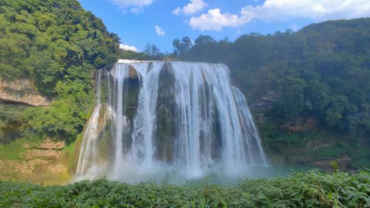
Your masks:
<svg viewBox="0 0 370 208"><path fill-rule="evenodd" d="M242 34L297 30L330 19L370 16L369 0L79 0L118 34L124 48L156 44L171 52L172 41L200 34L235 40ZM129 48L131 47L131 48Z"/></svg>

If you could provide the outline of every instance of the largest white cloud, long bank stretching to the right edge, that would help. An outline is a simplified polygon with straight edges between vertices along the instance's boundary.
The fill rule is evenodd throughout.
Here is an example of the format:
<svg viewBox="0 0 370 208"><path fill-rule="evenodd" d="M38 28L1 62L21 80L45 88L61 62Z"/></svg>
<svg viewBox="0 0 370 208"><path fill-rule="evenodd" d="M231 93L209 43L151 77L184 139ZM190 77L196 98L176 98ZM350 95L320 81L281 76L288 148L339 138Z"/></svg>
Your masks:
<svg viewBox="0 0 370 208"><path fill-rule="evenodd" d="M195 29L221 31L223 27L240 27L250 21L289 21L305 18L326 21L338 18L359 18L370 16L369 0L266 0L262 5L247 5L240 14L221 14L219 9L208 14L190 18Z"/></svg>

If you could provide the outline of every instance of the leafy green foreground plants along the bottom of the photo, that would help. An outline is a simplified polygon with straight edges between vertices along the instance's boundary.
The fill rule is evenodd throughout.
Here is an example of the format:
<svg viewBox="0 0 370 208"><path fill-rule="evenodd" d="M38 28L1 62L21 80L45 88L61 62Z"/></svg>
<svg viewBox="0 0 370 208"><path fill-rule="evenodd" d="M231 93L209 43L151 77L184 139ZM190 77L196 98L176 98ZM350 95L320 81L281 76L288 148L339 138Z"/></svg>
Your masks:
<svg viewBox="0 0 370 208"><path fill-rule="evenodd" d="M370 172L295 172L277 179L247 179L234 186L106 179L65 186L0 182L0 207L369 207Z"/></svg>

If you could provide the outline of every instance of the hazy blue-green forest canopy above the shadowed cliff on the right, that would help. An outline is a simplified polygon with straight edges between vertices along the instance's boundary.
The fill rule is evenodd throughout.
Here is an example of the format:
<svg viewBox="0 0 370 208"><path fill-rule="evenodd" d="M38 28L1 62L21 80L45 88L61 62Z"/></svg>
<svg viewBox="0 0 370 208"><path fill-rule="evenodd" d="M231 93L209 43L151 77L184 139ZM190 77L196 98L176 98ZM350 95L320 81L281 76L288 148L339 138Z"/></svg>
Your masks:
<svg viewBox="0 0 370 208"><path fill-rule="evenodd" d="M354 134L370 130L369 37L370 18L235 42L199 36L180 59L227 64L251 101L273 92L276 102L265 113L277 124L313 116L323 128Z"/></svg>

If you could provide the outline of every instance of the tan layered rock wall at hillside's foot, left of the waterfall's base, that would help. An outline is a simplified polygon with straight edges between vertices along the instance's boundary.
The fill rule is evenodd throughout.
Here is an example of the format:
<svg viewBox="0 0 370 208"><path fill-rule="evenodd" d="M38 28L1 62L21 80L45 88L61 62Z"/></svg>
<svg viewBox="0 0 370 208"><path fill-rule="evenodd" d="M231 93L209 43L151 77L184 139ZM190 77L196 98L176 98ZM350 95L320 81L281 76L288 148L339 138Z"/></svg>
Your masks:
<svg viewBox="0 0 370 208"><path fill-rule="evenodd" d="M0 180L29 181L44 185L64 184L71 175L64 153L64 142L46 140L41 144L23 143L17 159L0 159Z"/></svg>

